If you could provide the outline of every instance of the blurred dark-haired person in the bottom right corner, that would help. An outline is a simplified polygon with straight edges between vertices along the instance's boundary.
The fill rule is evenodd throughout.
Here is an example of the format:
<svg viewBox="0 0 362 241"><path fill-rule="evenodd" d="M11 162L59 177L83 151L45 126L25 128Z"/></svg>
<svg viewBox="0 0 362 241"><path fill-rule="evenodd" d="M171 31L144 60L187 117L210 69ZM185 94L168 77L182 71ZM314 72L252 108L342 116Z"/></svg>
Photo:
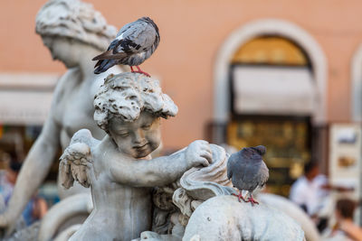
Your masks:
<svg viewBox="0 0 362 241"><path fill-rule="evenodd" d="M353 222L356 202L351 199L338 199L335 209L336 224L328 231L328 241L361 241L362 228Z"/></svg>

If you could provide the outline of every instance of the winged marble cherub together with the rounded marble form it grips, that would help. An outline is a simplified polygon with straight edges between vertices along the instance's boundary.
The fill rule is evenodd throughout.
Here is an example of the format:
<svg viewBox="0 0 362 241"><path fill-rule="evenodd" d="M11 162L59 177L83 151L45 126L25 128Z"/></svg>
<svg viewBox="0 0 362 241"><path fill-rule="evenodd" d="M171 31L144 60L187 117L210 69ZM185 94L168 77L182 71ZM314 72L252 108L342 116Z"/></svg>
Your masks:
<svg viewBox="0 0 362 241"><path fill-rule="evenodd" d="M224 148L195 141L169 156L149 156L160 143L160 117L177 112L156 79L110 75L94 107L107 135L97 140L80 130L60 163L62 185L90 187L94 208L72 236L56 240L304 240L281 211L231 195Z"/></svg>

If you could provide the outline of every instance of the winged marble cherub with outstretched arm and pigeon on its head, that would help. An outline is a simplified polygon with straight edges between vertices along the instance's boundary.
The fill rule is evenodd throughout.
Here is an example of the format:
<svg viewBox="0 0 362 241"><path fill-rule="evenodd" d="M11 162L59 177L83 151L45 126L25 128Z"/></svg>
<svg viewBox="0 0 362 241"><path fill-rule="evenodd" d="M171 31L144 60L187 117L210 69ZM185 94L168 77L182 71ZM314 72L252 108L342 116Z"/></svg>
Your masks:
<svg viewBox="0 0 362 241"><path fill-rule="evenodd" d="M70 240L131 240L152 225L153 187L179 179L212 160L209 144L151 159L161 142L160 118L177 107L158 81L138 73L110 75L94 98L94 119L107 135L93 138L81 130L61 157L62 184L90 187L94 209Z"/></svg>

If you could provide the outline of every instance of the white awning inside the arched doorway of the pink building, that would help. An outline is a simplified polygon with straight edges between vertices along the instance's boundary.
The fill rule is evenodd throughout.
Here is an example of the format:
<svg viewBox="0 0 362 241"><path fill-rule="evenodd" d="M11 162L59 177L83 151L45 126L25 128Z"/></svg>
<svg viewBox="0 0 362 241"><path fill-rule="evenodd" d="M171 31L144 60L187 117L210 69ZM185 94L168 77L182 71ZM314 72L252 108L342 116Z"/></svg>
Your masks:
<svg viewBox="0 0 362 241"><path fill-rule="evenodd" d="M307 67L233 68L233 111L250 115L312 115L315 81Z"/></svg>

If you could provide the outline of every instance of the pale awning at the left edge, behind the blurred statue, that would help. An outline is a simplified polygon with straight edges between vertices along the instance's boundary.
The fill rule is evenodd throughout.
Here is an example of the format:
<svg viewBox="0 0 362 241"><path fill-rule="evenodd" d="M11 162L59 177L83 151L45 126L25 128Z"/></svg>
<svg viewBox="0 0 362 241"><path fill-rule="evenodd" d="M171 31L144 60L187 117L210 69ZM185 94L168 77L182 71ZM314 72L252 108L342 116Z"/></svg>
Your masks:
<svg viewBox="0 0 362 241"><path fill-rule="evenodd" d="M0 74L0 124L43 125L57 74Z"/></svg>

